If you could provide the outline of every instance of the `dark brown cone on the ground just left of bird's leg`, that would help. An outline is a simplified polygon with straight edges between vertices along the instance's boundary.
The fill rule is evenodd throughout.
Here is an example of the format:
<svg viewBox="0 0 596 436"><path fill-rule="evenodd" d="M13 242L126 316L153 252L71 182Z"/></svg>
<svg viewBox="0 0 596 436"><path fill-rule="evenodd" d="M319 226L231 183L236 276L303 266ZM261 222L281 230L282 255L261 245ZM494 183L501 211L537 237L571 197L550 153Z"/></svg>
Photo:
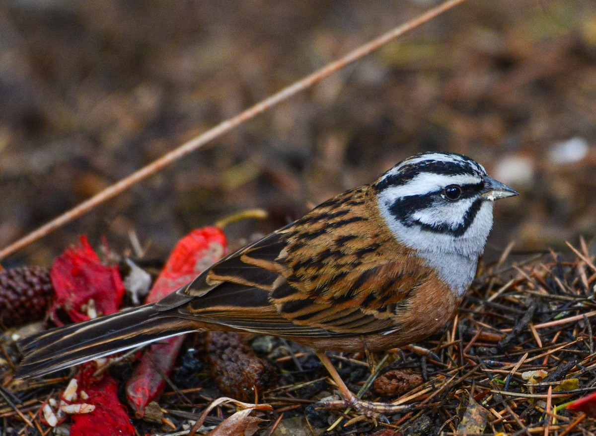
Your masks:
<svg viewBox="0 0 596 436"><path fill-rule="evenodd" d="M205 345L210 372L222 394L253 403L254 389L260 395L275 386L275 369L254 354L240 333L207 332Z"/></svg>

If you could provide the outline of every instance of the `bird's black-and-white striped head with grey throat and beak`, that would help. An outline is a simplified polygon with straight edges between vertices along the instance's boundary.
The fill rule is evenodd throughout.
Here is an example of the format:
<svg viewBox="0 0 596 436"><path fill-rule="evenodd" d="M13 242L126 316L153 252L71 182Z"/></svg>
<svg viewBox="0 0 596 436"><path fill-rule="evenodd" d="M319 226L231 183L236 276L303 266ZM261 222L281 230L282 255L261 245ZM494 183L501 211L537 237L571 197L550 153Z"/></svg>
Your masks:
<svg viewBox="0 0 596 436"><path fill-rule="evenodd" d="M492 227L493 201L517 192L455 153L421 153L402 160L373 184L378 208L399 242L430 263L444 254L474 259Z"/></svg>

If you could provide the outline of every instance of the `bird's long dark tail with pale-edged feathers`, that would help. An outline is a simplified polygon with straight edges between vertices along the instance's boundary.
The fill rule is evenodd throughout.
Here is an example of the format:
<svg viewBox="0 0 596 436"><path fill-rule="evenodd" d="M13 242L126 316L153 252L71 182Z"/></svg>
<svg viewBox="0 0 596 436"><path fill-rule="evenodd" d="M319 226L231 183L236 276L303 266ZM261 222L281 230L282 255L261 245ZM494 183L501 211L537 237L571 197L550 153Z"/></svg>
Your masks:
<svg viewBox="0 0 596 436"><path fill-rule="evenodd" d="M152 304L82 323L58 327L18 341L24 354L17 377L49 374L114 352L196 331L184 319Z"/></svg>

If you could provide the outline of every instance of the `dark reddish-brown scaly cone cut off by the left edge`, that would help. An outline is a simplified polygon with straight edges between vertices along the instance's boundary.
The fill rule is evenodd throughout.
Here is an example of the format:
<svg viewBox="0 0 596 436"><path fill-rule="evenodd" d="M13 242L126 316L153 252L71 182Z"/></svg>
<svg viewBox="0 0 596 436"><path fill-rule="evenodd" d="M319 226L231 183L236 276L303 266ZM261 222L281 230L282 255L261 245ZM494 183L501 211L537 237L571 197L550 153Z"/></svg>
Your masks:
<svg viewBox="0 0 596 436"><path fill-rule="evenodd" d="M0 271L0 323L17 327L44 319L54 286L44 267Z"/></svg>

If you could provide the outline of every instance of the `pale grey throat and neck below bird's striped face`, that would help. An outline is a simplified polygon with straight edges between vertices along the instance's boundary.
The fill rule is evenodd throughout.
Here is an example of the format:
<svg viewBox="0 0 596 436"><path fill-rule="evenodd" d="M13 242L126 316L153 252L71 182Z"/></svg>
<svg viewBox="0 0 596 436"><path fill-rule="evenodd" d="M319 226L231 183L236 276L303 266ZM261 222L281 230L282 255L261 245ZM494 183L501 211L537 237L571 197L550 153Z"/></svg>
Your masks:
<svg viewBox="0 0 596 436"><path fill-rule="evenodd" d="M482 255L492 227L492 201L484 201L470 227L461 236L424 230L418 225L407 227L393 217L389 208L392 195L381 194L378 208L393 236L414 250L457 296L467 291L476 274L478 258Z"/></svg>

